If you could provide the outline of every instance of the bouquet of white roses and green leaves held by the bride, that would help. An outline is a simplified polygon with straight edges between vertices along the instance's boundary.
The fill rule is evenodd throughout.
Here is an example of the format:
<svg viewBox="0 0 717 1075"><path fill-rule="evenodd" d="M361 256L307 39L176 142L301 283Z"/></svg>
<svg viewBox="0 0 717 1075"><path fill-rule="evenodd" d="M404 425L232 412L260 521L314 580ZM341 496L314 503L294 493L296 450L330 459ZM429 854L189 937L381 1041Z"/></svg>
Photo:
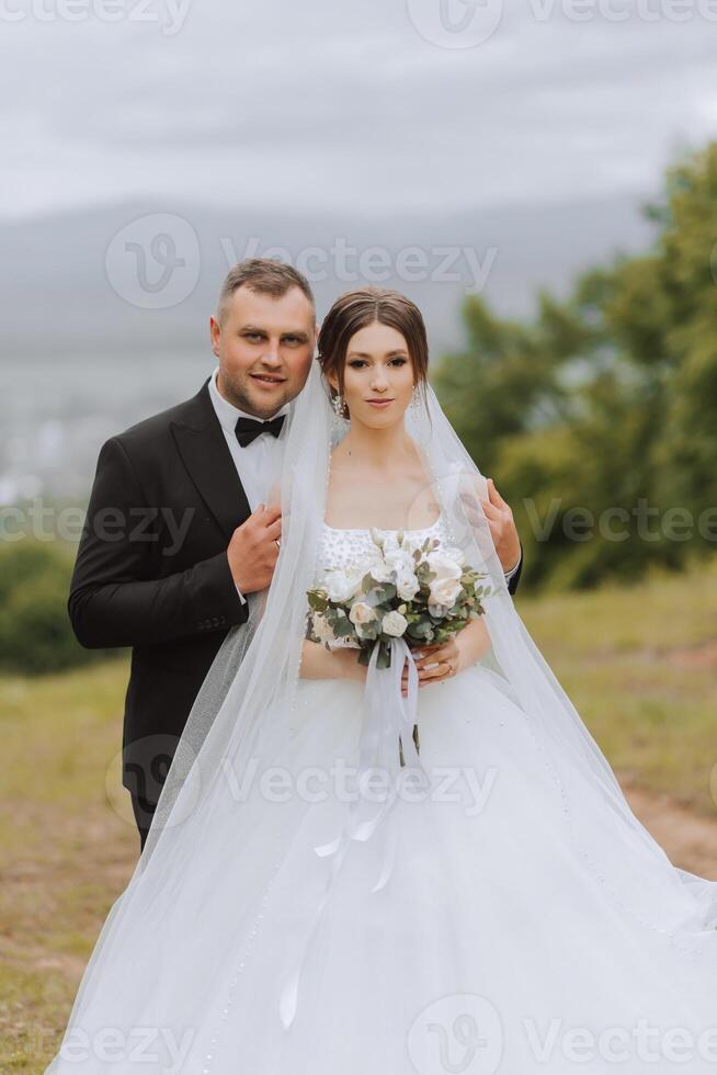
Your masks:
<svg viewBox="0 0 717 1075"><path fill-rule="evenodd" d="M323 584L307 591L307 637L330 648L345 640L357 646L367 665L378 643L378 668L390 666L390 643L409 647L446 642L483 614L490 592L486 576L466 565L459 548L440 548L435 538L411 543L406 534L371 531L375 550L361 563L326 573Z"/></svg>

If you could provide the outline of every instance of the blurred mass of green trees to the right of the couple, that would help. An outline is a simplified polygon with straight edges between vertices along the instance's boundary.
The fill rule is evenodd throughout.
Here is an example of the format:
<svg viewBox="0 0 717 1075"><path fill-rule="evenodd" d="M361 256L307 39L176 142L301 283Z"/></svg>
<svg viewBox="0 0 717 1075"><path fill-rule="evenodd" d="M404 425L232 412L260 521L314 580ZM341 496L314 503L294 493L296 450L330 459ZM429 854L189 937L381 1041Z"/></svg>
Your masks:
<svg viewBox="0 0 717 1075"><path fill-rule="evenodd" d="M513 506L528 581L593 586L714 548L717 533L679 541L665 523L717 505L717 144L670 169L645 213L653 249L581 274L562 302L540 292L531 321L468 299L466 347L434 377Z"/></svg>

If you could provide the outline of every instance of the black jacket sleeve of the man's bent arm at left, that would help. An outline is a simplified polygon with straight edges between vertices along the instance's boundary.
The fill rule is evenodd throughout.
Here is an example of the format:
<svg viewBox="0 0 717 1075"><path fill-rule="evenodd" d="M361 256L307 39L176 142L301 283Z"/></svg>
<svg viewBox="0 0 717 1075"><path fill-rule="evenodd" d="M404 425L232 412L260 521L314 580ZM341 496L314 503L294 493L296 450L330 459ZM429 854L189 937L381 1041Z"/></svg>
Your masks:
<svg viewBox="0 0 717 1075"><path fill-rule="evenodd" d="M151 578L152 553L136 520L151 514L122 443L100 451L67 608L90 649L143 646L227 630L247 619L226 550L186 570Z"/></svg>

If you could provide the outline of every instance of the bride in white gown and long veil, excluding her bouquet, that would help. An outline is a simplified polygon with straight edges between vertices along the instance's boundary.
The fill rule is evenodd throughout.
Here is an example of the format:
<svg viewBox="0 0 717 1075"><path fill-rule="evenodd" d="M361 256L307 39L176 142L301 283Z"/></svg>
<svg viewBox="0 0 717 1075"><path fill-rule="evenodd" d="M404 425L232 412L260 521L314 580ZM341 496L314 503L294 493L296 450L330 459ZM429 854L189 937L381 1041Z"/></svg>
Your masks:
<svg viewBox="0 0 717 1075"><path fill-rule="evenodd" d="M327 316L272 585L195 701L54 1075L717 1066L717 882L639 824L533 643L426 366L401 295ZM485 614L394 637L389 667L316 641L307 591L401 538L458 550Z"/></svg>

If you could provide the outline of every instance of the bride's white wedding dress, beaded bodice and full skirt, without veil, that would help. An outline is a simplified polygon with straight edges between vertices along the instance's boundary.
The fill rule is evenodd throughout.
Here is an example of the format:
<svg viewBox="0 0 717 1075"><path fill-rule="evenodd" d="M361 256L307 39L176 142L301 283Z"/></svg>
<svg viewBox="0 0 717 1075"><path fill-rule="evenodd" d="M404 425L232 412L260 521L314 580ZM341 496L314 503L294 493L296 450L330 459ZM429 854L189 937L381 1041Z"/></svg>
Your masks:
<svg viewBox="0 0 717 1075"><path fill-rule="evenodd" d="M451 543L441 520L414 535ZM371 545L368 531L325 525L322 566L345 567ZM380 829L352 846L318 923L325 883L306 879L343 813L329 795L307 814L257 918L251 960L237 951L228 982L203 983L206 1030L216 1028L202 1036L209 1059L198 1064L197 1048L198 1066L186 1071L717 1071L717 923L702 920L706 906L657 845L650 855L630 847L601 801L591 847L576 846L530 723L501 682L478 664L421 689L420 756L443 789L396 805L395 862L380 891ZM355 766L362 716L358 683L301 681L297 773L316 774L307 793L317 800L330 787L318 774ZM604 852L623 856L637 909L601 883ZM671 905L672 932L651 926L653 901L661 913ZM297 1014L284 1030L278 1004L297 953Z"/></svg>

